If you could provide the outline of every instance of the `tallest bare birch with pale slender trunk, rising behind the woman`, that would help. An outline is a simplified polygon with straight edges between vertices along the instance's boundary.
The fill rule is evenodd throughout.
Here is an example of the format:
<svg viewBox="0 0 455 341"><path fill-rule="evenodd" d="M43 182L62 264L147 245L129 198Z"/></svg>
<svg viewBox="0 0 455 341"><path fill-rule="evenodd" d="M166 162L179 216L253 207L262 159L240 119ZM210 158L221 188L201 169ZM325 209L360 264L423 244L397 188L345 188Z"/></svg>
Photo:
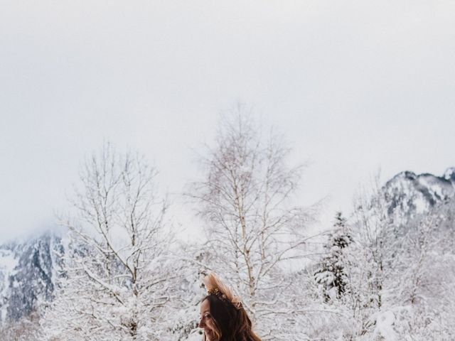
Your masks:
<svg viewBox="0 0 455 341"><path fill-rule="evenodd" d="M243 107L230 114L202 158L205 178L193 183L191 196L207 222L205 247L215 255L210 266L236 286L267 340L277 318L289 312L291 302L280 295L288 285L282 266L306 256L312 215L291 205L302 167L288 165L282 139L262 139Z"/></svg>

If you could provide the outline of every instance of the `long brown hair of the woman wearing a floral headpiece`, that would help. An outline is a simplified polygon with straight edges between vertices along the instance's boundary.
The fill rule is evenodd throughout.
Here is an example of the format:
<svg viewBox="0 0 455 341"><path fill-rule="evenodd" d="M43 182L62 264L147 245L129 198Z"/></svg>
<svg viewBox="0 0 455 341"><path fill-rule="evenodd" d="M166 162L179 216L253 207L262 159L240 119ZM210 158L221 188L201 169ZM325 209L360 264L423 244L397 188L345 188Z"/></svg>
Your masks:
<svg viewBox="0 0 455 341"><path fill-rule="evenodd" d="M219 295L205 296L215 326L216 341L261 341L253 332L252 323L242 305L233 305ZM205 336L203 338L205 340Z"/></svg>

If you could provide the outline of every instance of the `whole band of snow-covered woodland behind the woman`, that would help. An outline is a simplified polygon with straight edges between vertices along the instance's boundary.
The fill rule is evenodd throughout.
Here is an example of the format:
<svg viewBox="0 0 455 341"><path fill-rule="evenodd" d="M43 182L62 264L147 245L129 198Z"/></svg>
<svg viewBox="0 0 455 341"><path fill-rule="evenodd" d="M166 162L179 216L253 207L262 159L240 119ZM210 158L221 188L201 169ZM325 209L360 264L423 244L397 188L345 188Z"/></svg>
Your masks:
<svg viewBox="0 0 455 341"><path fill-rule="evenodd" d="M294 195L304 167L265 131L223 117L200 151L200 178L182 190L203 222L198 242L179 238L159 165L109 143L85 158L73 210L58 217L52 297L3 321L0 339L202 340L202 278L214 272L264 341L455 340L455 175L439 178L447 187L375 179L315 232L323 207ZM407 185L417 180L426 190Z"/></svg>

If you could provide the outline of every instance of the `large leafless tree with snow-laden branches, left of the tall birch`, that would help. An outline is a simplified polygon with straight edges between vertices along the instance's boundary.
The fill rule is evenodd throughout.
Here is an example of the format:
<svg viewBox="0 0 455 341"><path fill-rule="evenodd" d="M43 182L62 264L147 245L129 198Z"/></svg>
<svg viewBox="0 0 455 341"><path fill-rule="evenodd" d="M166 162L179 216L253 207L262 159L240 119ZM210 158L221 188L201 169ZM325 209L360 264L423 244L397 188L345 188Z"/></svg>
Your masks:
<svg viewBox="0 0 455 341"><path fill-rule="evenodd" d="M85 161L43 340L163 340L177 274L155 175L143 157L109 144Z"/></svg>

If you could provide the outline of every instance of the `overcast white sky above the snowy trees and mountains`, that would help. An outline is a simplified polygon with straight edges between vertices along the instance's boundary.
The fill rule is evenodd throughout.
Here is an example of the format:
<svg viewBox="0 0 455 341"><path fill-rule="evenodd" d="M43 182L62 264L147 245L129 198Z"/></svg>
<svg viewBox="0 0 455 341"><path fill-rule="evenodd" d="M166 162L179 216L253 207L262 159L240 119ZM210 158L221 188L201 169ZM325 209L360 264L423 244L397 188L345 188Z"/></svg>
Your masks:
<svg viewBox="0 0 455 341"><path fill-rule="evenodd" d="M181 192L239 100L311 161L299 200L328 195L326 220L379 167L441 175L454 60L455 1L2 0L0 242L53 224L105 139Z"/></svg>

